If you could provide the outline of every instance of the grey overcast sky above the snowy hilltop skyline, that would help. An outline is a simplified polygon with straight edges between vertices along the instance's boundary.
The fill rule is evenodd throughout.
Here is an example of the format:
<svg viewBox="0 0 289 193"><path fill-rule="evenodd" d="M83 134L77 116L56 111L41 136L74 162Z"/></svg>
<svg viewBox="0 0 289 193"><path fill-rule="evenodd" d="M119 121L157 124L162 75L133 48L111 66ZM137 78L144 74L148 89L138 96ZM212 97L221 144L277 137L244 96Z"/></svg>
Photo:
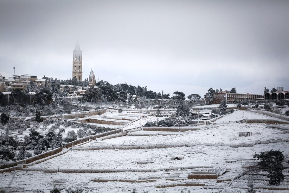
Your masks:
<svg viewBox="0 0 289 193"><path fill-rule="evenodd" d="M3 1L0 73L72 78L73 49L110 84L203 97L289 90L289 1Z"/></svg>

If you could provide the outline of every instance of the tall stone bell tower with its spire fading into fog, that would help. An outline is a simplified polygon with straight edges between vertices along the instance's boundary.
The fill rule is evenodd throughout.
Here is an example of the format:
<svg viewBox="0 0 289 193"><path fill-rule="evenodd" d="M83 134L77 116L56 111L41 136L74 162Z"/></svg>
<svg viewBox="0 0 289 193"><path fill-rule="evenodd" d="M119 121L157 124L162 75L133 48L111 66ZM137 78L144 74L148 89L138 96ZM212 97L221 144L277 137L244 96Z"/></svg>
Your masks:
<svg viewBox="0 0 289 193"><path fill-rule="evenodd" d="M80 50L78 41L73 50L72 78L82 81L82 51Z"/></svg>

